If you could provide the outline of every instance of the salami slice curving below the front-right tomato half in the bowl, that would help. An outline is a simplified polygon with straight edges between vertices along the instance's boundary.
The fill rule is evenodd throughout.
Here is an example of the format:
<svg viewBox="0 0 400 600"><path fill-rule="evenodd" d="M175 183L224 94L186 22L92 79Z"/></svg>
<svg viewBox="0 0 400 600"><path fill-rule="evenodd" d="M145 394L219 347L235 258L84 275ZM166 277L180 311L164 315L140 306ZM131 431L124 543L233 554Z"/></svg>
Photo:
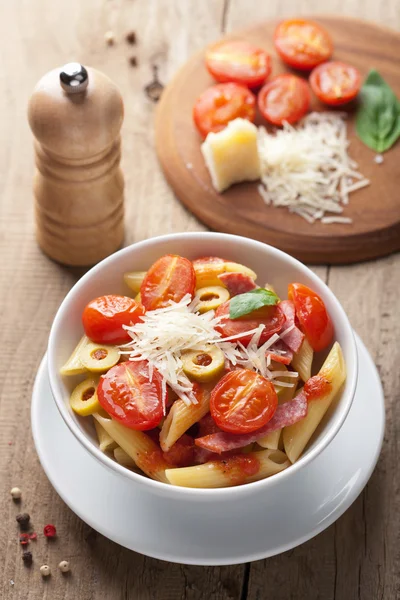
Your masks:
<svg viewBox="0 0 400 600"><path fill-rule="evenodd" d="M285 402L285 404L280 404L272 419L258 431L243 435L225 432L213 433L195 439L194 443L196 446L217 454L228 452L235 448L243 448L247 444L256 442L267 433L271 433L271 431L276 431L277 429L282 429L282 427L288 427L288 425L297 423L297 421L300 421L300 419L303 419L307 415L307 409L307 398L305 393L301 391L293 400Z"/></svg>

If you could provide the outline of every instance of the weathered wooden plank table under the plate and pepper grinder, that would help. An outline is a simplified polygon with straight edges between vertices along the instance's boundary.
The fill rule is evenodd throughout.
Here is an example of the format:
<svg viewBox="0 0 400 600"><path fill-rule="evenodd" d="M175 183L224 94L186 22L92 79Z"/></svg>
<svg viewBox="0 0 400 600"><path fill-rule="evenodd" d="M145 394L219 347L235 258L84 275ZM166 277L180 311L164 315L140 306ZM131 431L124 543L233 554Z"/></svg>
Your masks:
<svg viewBox="0 0 400 600"><path fill-rule="evenodd" d="M400 28L398 0L332 0L329 9L318 0L0 3L0 598L400 598L399 256L315 269L342 302L378 366L387 427L380 460L360 497L334 525L290 552L247 565L204 568L168 564L125 550L91 530L64 505L42 471L30 433L31 391L51 322L79 276L43 256L34 239L33 152L26 105L35 82L54 66L79 60L103 70L120 86L126 107L126 244L167 232L201 231L202 225L168 189L157 163L155 105L143 91L152 80L153 66L166 83L193 51L224 31L263 18L322 10ZM138 37L136 47L124 41L132 29ZM113 47L104 41L108 30L116 37ZM137 68L129 64L133 55ZM14 485L23 491L21 507L10 498ZM31 544L35 561L31 569L24 567L17 541L15 515L21 509L30 512L38 531L46 523L55 523L58 529L54 544L46 545L43 539ZM69 577L57 571L62 559L71 562ZM53 575L43 581L39 566L46 561Z"/></svg>

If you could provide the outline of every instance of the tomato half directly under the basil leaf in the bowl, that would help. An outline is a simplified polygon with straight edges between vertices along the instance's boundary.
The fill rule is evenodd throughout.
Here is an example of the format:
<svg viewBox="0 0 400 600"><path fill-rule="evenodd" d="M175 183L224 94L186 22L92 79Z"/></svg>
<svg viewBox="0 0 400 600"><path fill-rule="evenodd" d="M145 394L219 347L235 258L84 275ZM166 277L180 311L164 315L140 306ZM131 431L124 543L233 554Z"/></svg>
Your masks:
<svg viewBox="0 0 400 600"><path fill-rule="evenodd" d="M261 344L266 342L271 335L282 329L282 325L285 322L285 315L278 305L264 306L239 319L230 319L229 302L230 300L221 304L215 312L216 317L222 317L215 329L222 333L223 337L236 336L245 333L246 331L250 331L251 329L256 329L259 325L265 325L259 342L259 345L261 346ZM254 334L251 333L248 336L241 337L241 343L244 346L247 346L253 335Z"/></svg>

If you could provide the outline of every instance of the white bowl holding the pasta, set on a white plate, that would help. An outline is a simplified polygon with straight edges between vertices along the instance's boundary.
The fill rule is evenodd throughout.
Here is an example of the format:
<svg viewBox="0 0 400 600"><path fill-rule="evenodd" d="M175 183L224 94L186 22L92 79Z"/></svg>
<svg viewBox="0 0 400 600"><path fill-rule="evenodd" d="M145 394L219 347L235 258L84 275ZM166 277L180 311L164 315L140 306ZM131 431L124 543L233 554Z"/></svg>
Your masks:
<svg viewBox="0 0 400 600"><path fill-rule="evenodd" d="M91 419L78 417L69 406L69 397L80 378L61 377L61 366L83 334L81 315L86 304L104 294L126 294L131 291L123 281L126 271L145 271L164 254L180 254L189 259L200 256L221 256L253 269L259 284L273 284L278 295L287 297L287 285L300 282L315 290L324 300L335 327L335 339L340 343L347 367L347 379L340 397L330 408L302 457L288 469L250 484L234 488L190 489L153 481L119 465L101 452ZM132 485L172 500L186 498L195 501L237 501L249 494L268 493L268 488L279 485L296 471L303 469L333 440L346 419L354 398L357 382L357 351L353 330L337 298L330 289L306 266L288 254L254 240L222 233L179 233L165 235L133 244L116 252L93 267L71 289L62 302L51 328L48 346L50 385L57 407L78 441L102 464Z"/></svg>

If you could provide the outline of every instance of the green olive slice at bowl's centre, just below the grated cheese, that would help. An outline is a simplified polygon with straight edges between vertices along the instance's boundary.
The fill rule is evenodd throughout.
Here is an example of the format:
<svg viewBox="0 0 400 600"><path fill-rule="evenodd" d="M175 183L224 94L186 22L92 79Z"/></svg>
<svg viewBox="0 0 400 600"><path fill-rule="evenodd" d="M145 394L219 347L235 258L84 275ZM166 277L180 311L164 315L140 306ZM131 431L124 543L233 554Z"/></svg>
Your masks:
<svg viewBox="0 0 400 600"><path fill-rule="evenodd" d="M188 350L182 355L183 371L195 381L211 381L222 373L225 357L218 346L205 346L201 350Z"/></svg>

